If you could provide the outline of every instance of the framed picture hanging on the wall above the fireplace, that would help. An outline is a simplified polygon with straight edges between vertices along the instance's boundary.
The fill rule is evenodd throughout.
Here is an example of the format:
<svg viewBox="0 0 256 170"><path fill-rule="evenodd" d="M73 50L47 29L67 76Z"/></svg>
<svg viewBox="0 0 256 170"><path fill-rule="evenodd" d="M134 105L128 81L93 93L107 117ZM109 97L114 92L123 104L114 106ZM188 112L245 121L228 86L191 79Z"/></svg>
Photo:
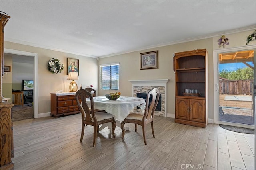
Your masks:
<svg viewBox="0 0 256 170"><path fill-rule="evenodd" d="M158 51L140 53L140 70L158 68Z"/></svg>

